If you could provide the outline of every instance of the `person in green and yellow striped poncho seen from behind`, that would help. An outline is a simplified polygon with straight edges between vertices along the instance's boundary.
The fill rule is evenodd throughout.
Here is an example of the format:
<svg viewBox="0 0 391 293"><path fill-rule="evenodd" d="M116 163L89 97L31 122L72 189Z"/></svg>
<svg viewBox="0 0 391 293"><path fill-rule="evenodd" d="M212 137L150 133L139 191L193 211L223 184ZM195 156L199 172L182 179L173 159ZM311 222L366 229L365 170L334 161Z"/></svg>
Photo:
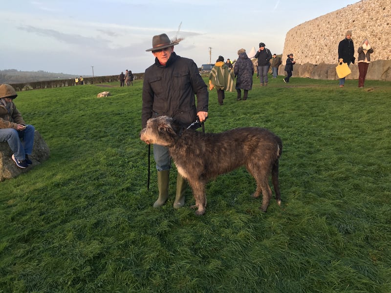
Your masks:
<svg viewBox="0 0 391 293"><path fill-rule="evenodd" d="M215 66L213 66L211 73L209 74L209 89L216 88L218 104L223 105L225 98L224 91L234 91L234 73L224 63L224 57L218 56Z"/></svg>

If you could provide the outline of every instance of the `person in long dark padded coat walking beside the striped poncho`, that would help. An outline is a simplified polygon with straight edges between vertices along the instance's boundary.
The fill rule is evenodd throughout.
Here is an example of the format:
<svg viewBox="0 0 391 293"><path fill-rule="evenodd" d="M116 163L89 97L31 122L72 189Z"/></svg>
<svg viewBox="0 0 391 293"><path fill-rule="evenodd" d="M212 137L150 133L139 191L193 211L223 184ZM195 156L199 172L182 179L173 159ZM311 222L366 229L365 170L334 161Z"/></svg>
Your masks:
<svg viewBox="0 0 391 293"><path fill-rule="evenodd" d="M238 92L237 100L241 100L241 90L244 90L243 100L247 100L248 91L253 86L254 65L247 57L245 49L239 49L238 60L235 62L234 74L238 77L236 80L236 91Z"/></svg>

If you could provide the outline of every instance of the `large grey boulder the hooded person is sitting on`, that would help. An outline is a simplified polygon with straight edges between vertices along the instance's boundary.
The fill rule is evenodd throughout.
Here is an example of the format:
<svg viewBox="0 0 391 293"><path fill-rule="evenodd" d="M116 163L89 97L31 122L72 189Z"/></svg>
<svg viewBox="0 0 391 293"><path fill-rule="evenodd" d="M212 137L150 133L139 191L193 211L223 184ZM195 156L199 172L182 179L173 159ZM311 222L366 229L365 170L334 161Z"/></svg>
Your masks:
<svg viewBox="0 0 391 293"><path fill-rule="evenodd" d="M0 181L17 177L22 173L28 172L34 166L41 164L49 157L50 150L41 134L35 130L33 151L31 156L29 156L33 164L24 169L20 168L11 159L12 154L12 150L7 142L0 143Z"/></svg>

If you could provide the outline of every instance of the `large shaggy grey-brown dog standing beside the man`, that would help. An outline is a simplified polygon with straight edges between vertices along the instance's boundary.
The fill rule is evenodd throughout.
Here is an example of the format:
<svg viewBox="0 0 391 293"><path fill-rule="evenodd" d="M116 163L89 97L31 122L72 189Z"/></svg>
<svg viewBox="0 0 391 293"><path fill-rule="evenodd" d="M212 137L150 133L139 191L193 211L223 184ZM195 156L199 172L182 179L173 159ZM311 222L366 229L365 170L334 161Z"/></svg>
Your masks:
<svg viewBox="0 0 391 293"><path fill-rule="evenodd" d="M140 133L147 144L167 146L178 172L188 180L195 198L197 215L205 212L206 183L217 175L246 166L257 182L253 197L262 192L261 210L266 211L272 197L269 176L272 176L278 205L281 194L278 181L281 139L267 129L243 127L222 133L187 130L172 118L160 116L148 120Z"/></svg>

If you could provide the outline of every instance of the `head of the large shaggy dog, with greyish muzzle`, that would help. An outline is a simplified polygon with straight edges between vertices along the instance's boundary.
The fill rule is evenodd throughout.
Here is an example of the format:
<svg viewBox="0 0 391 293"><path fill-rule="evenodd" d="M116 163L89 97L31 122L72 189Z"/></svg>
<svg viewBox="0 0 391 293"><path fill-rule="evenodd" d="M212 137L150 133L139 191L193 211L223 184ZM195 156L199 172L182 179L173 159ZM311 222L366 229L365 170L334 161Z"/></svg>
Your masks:
<svg viewBox="0 0 391 293"><path fill-rule="evenodd" d="M147 144L172 146L179 137L179 130L179 125L171 117L159 116L147 121L147 126L140 132L140 138Z"/></svg>

